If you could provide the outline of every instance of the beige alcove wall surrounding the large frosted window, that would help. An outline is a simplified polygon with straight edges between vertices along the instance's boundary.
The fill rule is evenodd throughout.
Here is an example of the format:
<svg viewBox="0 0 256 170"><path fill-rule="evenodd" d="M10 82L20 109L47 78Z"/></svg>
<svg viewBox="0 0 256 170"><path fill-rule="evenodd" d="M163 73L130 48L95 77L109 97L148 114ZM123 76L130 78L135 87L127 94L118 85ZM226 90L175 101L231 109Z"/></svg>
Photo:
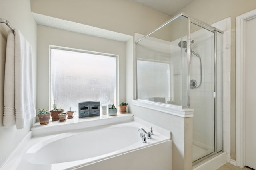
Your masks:
<svg viewBox="0 0 256 170"><path fill-rule="evenodd" d="M38 25L37 109L50 109L50 45L118 55L119 98L125 99L126 43Z"/></svg>

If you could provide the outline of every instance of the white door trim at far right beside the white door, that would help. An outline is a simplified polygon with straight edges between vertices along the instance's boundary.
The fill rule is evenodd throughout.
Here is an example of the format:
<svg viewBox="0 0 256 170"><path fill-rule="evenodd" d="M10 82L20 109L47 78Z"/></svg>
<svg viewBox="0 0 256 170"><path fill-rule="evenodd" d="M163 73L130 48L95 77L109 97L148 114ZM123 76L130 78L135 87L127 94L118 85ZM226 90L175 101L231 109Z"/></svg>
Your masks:
<svg viewBox="0 0 256 170"><path fill-rule="evenodd" d="M236 17L236 165L246 165L245 150L245 61L246 21L256 18L256 10Z"/></svg>

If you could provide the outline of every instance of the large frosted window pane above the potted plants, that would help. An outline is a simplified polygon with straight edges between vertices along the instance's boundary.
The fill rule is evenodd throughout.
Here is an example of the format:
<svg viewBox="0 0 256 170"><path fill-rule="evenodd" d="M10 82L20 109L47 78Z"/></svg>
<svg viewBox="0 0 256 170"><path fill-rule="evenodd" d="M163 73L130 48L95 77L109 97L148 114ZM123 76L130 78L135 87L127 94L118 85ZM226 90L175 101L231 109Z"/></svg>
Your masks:
<svg viewBox="0 0 256 170"><path fill-rule="evenodd" d="M78 101L116 105L116 56L51 48L51 103L77 111Z"/></svg>

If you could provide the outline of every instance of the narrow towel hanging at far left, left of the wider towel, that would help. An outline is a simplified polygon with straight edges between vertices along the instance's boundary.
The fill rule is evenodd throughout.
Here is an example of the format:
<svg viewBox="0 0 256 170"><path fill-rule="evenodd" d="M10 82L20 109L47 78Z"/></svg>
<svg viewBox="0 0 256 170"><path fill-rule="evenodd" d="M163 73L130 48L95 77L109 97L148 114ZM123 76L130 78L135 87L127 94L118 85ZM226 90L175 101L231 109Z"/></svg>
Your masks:
<svg viewBox="0 0 256 170"><path fill-rule="evenodd" d="M6 42L6 58L4 72L4 127L15 125L14 110L14 34L12 31L8 33Z"/></svg>

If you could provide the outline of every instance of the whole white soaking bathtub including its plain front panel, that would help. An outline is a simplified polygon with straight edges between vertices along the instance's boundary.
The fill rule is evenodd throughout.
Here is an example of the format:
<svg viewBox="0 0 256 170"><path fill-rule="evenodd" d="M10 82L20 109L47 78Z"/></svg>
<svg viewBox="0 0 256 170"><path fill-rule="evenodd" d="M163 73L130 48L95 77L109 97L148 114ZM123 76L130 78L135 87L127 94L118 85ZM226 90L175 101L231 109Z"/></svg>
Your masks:
<svg viewBox="0 0 256 170"><path fill-rule="evenodd" d="M137 118L135 118L137 119ZM147 170L171 169L170 132L153 126L154 135L142 143L143 121L76 129L32 137L8 169L17 170ZM118 122L117 122L118 123ZM142 123L142 124L141 124ZM148 124L149 125L149 124ZM158 133L157 130L161 131Z"/></svg>

